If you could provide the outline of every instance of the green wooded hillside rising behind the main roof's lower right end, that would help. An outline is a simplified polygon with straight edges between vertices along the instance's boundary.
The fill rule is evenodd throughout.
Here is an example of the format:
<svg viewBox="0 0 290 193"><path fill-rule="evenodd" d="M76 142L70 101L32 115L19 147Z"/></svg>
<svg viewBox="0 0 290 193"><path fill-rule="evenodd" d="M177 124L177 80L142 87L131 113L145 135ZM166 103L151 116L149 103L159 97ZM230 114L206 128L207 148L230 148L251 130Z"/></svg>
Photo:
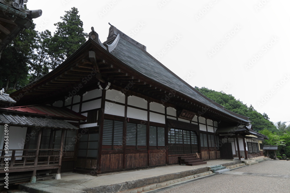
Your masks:
<svg viewBox="0 0 290 193"><path fill-rule="evenodd" d="M195 89L197 89L197 91L210 98L211 100L221 104L226 109L233 111L234 113L250 117L254 130L259 131L264 128L273 131L277 130L274 124L269 121L269 117L266 113L263 113L262 115L261 113L257 112L252 105L248 107L246 104L243 104L242 101L235 99L233 95L214 91L205 87L195 87Z"/></svg>

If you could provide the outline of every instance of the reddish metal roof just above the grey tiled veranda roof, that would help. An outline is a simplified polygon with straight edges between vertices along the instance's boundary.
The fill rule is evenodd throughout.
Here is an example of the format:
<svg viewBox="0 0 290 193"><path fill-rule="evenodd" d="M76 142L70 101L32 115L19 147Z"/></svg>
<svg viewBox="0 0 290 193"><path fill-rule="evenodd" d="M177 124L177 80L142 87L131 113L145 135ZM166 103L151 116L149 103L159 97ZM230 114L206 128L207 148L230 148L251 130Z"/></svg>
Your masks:
<svg viewBox="0 0 290 193"><path fill-rule="evenodd" d="M28 113L33 116L41 115L46 117L56 117L64 120L86 120L87 117L76 113L68 108L55 107L48 105L28 105L28 106L16 106L9 108L0 108L0 110L5 110L6 112L18 112L18 113Z"/></svg>

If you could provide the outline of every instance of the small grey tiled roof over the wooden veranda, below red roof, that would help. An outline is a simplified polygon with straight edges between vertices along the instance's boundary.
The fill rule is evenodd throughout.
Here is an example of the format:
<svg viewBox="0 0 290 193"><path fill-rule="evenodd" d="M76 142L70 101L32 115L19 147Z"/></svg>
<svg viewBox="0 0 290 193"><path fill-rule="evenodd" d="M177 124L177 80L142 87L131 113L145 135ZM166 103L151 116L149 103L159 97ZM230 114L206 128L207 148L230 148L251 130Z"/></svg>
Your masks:
<svg viewBox="0 0 290 193"><path fill-rule="evenodd" d="M21 125L21 126L35 126L35 127L51 127L51 128L66 128L78 129L76 126L57 119L50 119L46 117L35 117L28 115L18 115L11 113L0 113L0 123Z"/></svg>

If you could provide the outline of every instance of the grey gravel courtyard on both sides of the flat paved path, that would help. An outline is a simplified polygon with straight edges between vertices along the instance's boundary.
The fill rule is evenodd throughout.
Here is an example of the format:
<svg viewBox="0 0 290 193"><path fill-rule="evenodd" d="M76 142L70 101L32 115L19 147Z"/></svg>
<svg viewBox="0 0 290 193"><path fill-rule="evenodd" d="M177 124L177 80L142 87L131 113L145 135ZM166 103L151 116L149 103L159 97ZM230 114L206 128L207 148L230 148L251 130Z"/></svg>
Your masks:
<svg viewBox="0 0 290 193"><path fill-rule="evenodd" d="M263 161L252 166L245 166L233 171L262 174L290 174L290 161ZM290 178L245 176L232 174L219 174L213 177L200 179L190 183L175 186L160 192L290 192Z"/></svg>

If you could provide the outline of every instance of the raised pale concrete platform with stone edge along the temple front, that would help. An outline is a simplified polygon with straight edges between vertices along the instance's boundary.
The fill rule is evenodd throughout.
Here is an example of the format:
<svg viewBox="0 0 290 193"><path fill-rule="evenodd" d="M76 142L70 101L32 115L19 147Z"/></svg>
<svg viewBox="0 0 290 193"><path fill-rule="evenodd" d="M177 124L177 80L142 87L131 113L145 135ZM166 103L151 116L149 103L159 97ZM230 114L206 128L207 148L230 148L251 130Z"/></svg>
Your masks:
<svg viewBox="0 0 290 193"><path fill-rule="evenodd" d="M106 192L106 190L110 190L110 192L120 192L154 183L175 180L198 173L209 172L210 166L219 164L230 166L237 162L241 163L241 161L234 160L213 160L207 161L207 164L200 166L164 166L100 176L68 172L61 173L61 179L59 180L51 179L36 183L21 184L20 188L27 192L43 191L48 193Z"/></svg>

